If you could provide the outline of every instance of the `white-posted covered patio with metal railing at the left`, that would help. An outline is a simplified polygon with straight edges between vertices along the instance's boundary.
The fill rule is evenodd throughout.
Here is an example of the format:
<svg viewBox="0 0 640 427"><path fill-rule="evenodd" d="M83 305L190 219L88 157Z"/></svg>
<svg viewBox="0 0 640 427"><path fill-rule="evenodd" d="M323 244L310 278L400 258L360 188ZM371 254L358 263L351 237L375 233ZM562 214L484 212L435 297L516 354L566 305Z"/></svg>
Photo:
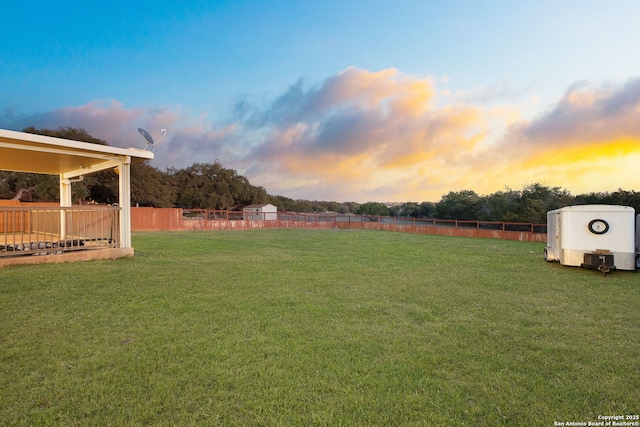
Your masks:
<svg viewBox="0 0 640 427"><path fill-rule="evenodd" d="M132 163L150 151L0 129L0 170L58 175L60 204L0 201L0 267L132 256ZM113 169L117 206L73 206L71 186L83 176Z"/></svg>

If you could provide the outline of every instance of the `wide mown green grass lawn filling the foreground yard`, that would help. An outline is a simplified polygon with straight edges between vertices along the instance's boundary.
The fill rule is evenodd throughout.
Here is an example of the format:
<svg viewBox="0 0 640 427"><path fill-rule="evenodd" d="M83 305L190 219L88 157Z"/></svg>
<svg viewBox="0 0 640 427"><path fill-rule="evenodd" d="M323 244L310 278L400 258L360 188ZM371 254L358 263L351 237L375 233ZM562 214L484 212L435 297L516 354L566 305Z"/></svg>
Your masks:
<svg viewBox="0 0 640 427"><path fill-rule="evenodd" d="M553 426L640 413L640 275L544 244L138 233L0 269L0 425Z"/></svg>

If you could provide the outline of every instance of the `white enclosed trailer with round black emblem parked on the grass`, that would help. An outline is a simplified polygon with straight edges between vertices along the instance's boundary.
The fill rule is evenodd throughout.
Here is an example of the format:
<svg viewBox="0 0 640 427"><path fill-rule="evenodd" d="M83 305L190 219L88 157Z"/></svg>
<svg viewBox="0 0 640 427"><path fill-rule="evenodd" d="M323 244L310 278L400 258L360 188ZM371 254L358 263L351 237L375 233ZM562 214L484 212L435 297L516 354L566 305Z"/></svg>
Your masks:
<svg viewBox="0 0 640 427"><path fill-rule="evenodd" d="M544 258L606 271L635 270L636 221L640 215L637 218L629 206L580 205L549 211Z"/></svg>

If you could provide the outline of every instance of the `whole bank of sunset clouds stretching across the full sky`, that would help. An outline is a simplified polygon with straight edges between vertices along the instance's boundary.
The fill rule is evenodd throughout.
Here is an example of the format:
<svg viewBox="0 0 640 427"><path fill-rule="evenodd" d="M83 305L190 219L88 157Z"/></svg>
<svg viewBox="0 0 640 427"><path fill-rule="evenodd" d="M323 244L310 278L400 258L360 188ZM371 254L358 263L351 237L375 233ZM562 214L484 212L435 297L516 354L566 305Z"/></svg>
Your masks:
<svg viewBox="0 0 640 427"><path fill-rule="evenodd" d="M242 99L224 122L179 106L117 101L28 117L6 111L2 119L14 128L83 127L139 148L137 127L154 136L166 128L155 166L219 160L292 198L438 201L449 191L488 194L534 182L574 193L640 187L640 78L578 82L533 119L521 117L506 84L452 94L443 83L350 67L318 84L294 82L268 102Z"/></svg>

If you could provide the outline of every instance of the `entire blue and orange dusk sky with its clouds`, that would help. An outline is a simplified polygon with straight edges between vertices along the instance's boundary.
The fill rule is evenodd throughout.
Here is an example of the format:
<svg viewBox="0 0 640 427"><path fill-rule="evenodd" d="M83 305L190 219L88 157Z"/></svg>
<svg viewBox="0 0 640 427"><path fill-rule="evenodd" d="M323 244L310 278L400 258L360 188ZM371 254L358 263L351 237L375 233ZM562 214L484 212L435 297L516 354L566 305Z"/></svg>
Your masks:
<svg viewBox="0 0 640 427"><path fill-rule="evenodd" d="M640 191L640 1L9 2L0 128L82 127L269 194Z"/></svg>

